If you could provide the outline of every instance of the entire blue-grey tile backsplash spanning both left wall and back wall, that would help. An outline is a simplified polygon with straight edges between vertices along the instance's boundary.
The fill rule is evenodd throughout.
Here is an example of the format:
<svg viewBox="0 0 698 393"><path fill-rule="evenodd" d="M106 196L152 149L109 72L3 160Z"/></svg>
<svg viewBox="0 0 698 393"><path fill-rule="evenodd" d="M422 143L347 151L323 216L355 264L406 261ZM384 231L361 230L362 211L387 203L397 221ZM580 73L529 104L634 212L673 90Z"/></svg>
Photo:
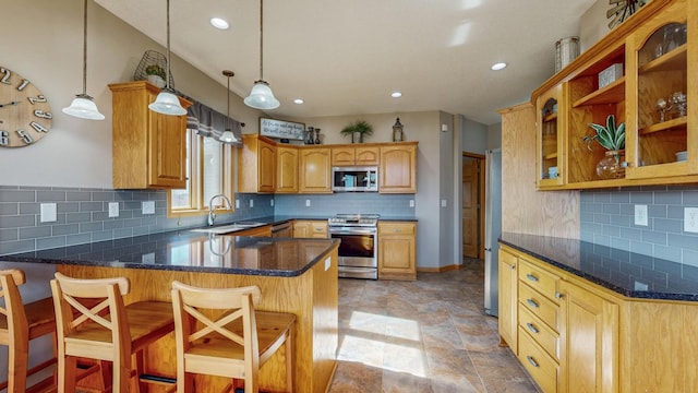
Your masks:
<svg viewBox="0 0 698 393"><path fill-rule="evenodd" d="M219 222L274 214L299 217L337 213L414 216L414 207L409 206L414 195L237 193L234 199L240 207L231 214L218 214ZM155 213L143 214L143 203L147 201L155 202ZM118 217L109 217L109 203L119 204ZM56 204L56 221L41 223L41 204ZM205 224L205 215L168 218L167 191L0 186L0 254L194 228Z"/></svg>

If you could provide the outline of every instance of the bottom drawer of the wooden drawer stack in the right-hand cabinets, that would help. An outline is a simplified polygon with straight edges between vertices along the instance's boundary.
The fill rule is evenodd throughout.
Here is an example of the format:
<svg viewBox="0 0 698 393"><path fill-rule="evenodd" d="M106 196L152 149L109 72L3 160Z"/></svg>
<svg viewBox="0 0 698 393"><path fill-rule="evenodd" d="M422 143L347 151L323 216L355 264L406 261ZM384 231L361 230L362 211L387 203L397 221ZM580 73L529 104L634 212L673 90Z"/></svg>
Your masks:
<svg viewBox="0 0 698 393"><path fill-rule="evenodd" d="M543 393L556 393L559 366L519 326L519 361Z"/></svg>

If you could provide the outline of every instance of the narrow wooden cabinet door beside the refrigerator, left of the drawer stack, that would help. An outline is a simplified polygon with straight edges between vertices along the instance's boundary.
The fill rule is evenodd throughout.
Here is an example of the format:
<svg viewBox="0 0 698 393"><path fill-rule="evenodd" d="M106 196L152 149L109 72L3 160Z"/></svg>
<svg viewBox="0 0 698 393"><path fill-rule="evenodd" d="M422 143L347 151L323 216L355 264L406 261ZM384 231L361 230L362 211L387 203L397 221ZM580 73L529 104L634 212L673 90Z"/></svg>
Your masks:
<svg viewBox="0 0 698 393"><path fill-rule="evenodd" d="M498 262L498 324L502 344L507 344L514 355L518 354L518 258L500 249Z"/></svg>

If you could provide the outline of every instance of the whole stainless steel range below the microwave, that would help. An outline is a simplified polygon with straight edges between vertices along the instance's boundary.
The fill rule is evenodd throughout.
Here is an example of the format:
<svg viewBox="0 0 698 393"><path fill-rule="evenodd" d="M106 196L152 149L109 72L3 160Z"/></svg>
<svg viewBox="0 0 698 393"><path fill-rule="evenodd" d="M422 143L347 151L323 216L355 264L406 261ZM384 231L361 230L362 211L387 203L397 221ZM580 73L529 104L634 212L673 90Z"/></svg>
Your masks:
<svg viewBox="0 0 698 393"><path fill-rule="evenodd" d="M339 245L339 276L378 278L380 214L337 214L328 219L329 237Z"/></svg>

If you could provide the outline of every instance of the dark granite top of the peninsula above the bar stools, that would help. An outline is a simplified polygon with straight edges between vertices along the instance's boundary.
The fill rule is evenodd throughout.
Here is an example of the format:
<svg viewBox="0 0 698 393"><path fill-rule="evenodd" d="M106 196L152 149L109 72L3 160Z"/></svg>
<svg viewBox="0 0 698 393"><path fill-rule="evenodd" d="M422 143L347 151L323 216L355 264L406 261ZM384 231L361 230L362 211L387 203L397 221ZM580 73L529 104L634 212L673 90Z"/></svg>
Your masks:
<svg viewBox="0 0 698 393"><path fill-rule="evenodd" d="M323 261L338 245L339 240L334 239L215 236L179 230L0 255L0 262L292 277Z"/></svg>

